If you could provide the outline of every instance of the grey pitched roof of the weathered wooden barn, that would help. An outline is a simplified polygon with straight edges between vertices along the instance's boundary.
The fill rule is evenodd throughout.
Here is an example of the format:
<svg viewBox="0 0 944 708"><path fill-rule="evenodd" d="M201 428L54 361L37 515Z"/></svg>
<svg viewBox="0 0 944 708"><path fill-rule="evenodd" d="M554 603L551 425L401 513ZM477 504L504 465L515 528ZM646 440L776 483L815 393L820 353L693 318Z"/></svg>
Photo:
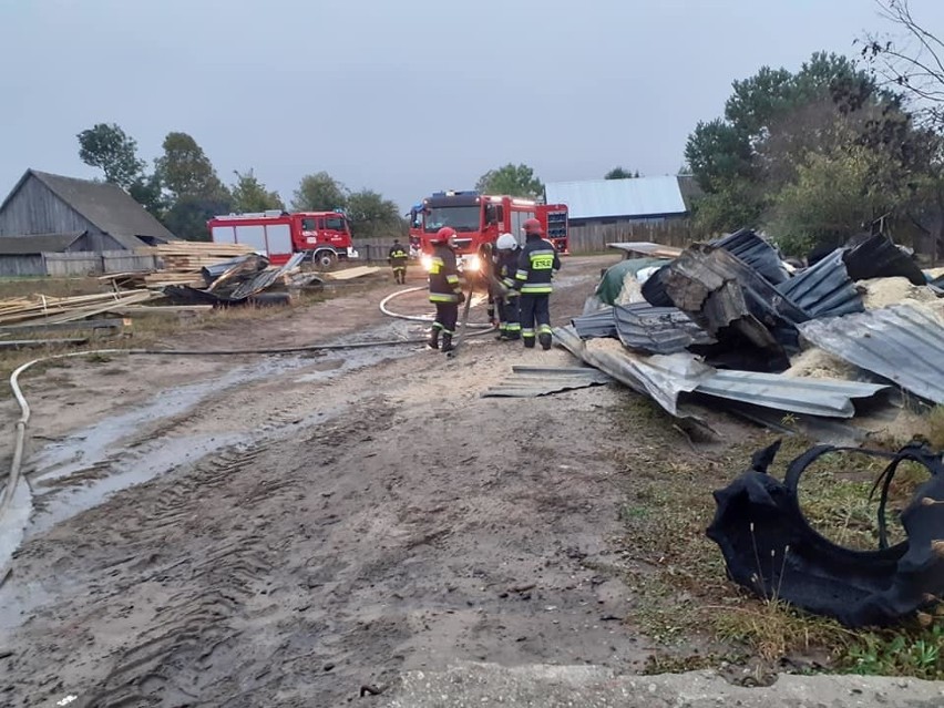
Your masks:
<svg viewBox="0 0 944 708"><path fill-rule="evenodd" d="M176 240L161 222L116 184L64 177L38 170L27 170L0 205L0 212L31 175L125 248L133 249L145 245L136 236Z"/></svg>

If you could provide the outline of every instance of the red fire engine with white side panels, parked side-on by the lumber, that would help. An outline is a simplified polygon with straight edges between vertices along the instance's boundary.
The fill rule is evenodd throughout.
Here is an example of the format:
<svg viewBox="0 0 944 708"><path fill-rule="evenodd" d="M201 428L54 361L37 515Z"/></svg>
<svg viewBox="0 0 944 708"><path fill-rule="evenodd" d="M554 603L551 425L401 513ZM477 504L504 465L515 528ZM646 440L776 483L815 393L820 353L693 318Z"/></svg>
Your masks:
<svg viewBox="0 0 944 708"><path fill-rule="evenodd" d="M314 263L325 269L338 260L358 257L350 225L340 212L289 214L273 209L217 216L206 225L217 244L247 244L274 265L286 263L298 252L311 252Z"/></svg>

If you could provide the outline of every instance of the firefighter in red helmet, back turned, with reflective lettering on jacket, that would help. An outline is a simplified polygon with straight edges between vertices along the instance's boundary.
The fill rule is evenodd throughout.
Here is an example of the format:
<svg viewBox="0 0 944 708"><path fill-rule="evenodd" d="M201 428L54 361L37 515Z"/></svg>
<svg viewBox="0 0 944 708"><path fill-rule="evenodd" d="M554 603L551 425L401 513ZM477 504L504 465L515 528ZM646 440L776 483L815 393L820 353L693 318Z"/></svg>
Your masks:
<svg viewBox="0 0 944 708"><path fill-rule="evenodd" d="M535 322L542 349L551 349L551 280L561 269L557 249L542 238L541 222L530 218L522 225L525 243L517 260L515 289L521 291L521 337L524 346L534 348Z"/></svg>

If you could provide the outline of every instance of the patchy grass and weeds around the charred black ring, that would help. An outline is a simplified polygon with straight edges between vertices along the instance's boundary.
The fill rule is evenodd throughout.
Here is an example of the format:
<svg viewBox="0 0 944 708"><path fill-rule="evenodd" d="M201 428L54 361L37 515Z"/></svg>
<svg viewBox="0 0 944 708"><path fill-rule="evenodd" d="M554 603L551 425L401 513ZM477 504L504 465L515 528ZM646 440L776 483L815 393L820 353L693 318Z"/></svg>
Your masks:
<svg viewBox="0 0 944 708"><path fill-rule="evenodd" d="M698 455L671 418L635 396L616 421L629 441L616 460L627 481L619 509L633 598L626 622L659 647L647 670L717 667L741 657L758 673L779 670L789 660L796 670L944 679L944 624L936 617L855 632L778 597L758 598L726 578L721 553L705 535L715 514L711 492L743 472L773 435L755 432ZM784 438L771 473L782 479L786 465L811 444ZM810 523L837 543L878 547L878 501L870 501L869 492L883 468L883 461L864 455L820 458L800 482ZM926 476L919 465L900 468L886 510L890 542L904 537L899 513Z"/></svg>

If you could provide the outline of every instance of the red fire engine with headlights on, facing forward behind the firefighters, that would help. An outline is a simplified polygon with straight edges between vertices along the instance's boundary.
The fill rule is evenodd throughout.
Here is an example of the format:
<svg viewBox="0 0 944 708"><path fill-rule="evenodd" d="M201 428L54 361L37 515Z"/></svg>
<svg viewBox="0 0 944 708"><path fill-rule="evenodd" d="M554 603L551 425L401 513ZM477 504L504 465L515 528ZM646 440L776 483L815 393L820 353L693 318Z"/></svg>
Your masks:
<svg viewBox="0 0 944 708"><path fill-rule="evenodd" d="M410 212L410 242L428 258L432 253L430 238L443 226L451 226L456 232L456 253L463 267L476 270L483 245L494 244L504 233L524 243L521 225L530 218L541 222L545 238L560 253L568 253L565 204L538 204L479 192L435 192L424 198ZM424 266L425 261L423 258Z"/></svg>

